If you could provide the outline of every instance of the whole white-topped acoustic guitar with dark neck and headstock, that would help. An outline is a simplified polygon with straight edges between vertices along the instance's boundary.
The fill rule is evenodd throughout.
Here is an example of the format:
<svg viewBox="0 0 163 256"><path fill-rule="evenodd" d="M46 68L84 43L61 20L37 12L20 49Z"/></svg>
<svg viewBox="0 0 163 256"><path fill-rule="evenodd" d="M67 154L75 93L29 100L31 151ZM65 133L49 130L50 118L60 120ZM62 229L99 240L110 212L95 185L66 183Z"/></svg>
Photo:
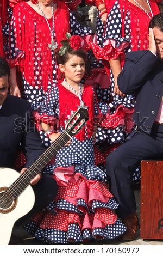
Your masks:
<svg viewBox="0 0 163 256"><path fill-rule="evenodd" d="M11 168L0 168L0 245L8 245L14 223L26 215L35 202L30 181L76 135L89 119L86 107L79 107L64 132L42 153L23 174Z"/></svg>

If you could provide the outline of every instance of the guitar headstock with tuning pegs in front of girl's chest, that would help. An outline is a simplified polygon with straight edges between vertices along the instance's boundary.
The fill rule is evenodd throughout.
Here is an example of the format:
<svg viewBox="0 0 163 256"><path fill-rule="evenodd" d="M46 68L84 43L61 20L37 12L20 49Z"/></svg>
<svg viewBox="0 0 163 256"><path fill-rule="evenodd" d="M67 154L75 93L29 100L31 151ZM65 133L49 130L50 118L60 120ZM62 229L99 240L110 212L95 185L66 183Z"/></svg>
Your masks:
<svg viewBox="0 0 163 256"><path fill-rule="evenodd" d="M86 124L89 119L87 107L79 107L76 112L73 113L70 120L66 124L65 131L70 136L76 135L80 129Z"/></svg>

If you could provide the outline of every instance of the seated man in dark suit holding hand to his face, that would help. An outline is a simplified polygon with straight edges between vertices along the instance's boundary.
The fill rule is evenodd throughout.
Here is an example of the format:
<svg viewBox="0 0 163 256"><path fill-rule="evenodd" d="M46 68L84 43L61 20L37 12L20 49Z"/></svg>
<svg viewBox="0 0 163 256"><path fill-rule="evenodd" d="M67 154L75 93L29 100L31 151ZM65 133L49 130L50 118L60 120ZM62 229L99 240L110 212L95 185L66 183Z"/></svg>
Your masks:
<svg viewBox="0 0 163 256"><path fill-rule="evenodd" d="M148 50L126 54L117 82L122 93L136 96L135 129L106 159L110 191L120 204L117 214L127 227L120 240L129 241L139 229L133 172L141 160L163 155L163 13L151 19Z"/></svg>

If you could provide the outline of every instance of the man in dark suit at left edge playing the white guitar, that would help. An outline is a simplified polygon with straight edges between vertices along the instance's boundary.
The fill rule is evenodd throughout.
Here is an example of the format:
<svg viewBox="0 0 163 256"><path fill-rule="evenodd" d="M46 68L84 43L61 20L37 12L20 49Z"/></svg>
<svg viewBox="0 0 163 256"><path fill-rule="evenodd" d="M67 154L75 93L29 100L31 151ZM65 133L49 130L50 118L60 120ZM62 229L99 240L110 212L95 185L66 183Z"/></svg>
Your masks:
<svg viewBox="0 0 163 256"><path fill-rule="evenodd" d="M45 148L36 130L29 102L8 94L9 77L10 67L0 57L0 167L14 168L21 145L27 159L27 168L39 158ZM26 168L21 170L21 174ZM58 191L57 182L43 172L37 174L30 184L35 193L35 204L26 216L16 222L16 225L51 203Z"/></svg>

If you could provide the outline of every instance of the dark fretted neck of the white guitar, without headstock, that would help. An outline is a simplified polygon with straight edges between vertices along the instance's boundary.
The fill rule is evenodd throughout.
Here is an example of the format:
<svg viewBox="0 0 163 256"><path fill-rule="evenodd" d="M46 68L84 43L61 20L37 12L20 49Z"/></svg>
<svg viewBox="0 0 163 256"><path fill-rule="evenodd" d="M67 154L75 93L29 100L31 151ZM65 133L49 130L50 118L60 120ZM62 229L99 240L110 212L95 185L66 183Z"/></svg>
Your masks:
<svg viewBox="0 0 163 256"><path fill-rule="evenodd" d="M20 175L17 180L8 188L12 197L16 199L22 191L30 184L30 181L35 178L37 174L47 165L47 163L64 147L65 143L71 138L67 132L63 132L53 143L50 145L43 154L37 159L32 166L28 167L26 172Z"/></svg>

